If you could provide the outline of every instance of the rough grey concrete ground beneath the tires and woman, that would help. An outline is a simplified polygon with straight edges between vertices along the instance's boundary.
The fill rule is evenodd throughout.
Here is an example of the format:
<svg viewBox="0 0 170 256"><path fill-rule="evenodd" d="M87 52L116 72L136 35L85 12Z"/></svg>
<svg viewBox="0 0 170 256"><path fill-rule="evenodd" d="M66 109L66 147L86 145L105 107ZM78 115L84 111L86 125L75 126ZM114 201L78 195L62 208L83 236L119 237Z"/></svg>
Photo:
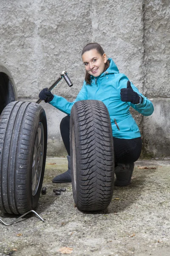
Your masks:
<svg viewBox="0 0 170 256"><path fill-rule="evenodd" d="M170 160L137 161L130 186L115 187L108 209L97 213L75 207L71 184L51 183L66 169L67 158L47 158L47 193L37 207L45 221L31 214L0 224L0 255L170 256ZM57 196L60 187L67 190ZM0 218L9 223L15 216Z"/></svg>

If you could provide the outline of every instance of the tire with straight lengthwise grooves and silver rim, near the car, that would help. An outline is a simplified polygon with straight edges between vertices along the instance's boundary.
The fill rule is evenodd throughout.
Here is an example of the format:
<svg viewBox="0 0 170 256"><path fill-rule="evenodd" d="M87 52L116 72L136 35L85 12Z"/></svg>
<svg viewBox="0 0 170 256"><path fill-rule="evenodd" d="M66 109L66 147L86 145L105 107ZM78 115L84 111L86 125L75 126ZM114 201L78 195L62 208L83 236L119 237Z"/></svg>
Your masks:
<svg viewBox="0 0 170 256"><path fill-rule="evenodd" d="M0 116L0 210L24 214L37 207L45 170L47 121L43 108L11 102Z"/></svg>

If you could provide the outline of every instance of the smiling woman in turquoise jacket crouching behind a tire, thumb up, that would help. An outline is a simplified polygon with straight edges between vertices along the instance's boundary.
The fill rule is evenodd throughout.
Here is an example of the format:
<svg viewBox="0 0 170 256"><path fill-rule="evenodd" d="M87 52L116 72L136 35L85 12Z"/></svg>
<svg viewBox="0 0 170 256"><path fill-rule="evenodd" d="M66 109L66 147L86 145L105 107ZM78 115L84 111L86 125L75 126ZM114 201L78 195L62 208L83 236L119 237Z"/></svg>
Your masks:
<svg viewBox="0 0 170 256"><path fill-rule="evenodd" d="M111 118L116 167L114 184L126 186L130 184L134 162L142 150L140 131L129 108L131 106L142 115L149 116L153 113L153 104L124 74L119 73L114 61L107 59L99 44L87 44L82 50L82 61L86 70L85 81L74 102L53 95L47 88L39 94L40 99L68 115L60 123L62 140L68 152L68 171L57 175L52 181L71 182L69 132L72 106L79 100L96 99L104 102Z"/></svg>

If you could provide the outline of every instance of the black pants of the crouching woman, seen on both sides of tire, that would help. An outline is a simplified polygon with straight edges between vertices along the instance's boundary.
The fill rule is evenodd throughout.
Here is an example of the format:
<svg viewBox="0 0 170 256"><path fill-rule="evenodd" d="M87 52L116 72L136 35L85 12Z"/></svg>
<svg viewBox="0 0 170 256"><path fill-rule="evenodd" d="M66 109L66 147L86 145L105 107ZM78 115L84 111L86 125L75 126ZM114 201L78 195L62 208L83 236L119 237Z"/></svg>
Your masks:
<svg viewBox="0 0 170 256"><path fill-rule="evenodd" d="M63 143L70 156L70 116L65 116L60 123ZM114 157L116 163L133 163L140 157L142 151L141 137L127 140L113 137Z"/></svg>

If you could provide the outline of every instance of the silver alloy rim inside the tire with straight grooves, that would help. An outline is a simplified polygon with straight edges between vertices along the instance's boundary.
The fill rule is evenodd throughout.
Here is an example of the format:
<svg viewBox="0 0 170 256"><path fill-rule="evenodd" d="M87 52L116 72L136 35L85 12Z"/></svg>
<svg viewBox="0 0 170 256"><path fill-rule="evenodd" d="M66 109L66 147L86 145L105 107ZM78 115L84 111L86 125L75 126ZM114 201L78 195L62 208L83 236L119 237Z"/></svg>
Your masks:
<svg viewBox="0 0 170 256"><path fill-rule="evenodd" d="M37 134L34 143L34 154L32 163L32 195L36 195L42 172L42 161L44 152L44 128L42 122L39 122Z"/></svg>

